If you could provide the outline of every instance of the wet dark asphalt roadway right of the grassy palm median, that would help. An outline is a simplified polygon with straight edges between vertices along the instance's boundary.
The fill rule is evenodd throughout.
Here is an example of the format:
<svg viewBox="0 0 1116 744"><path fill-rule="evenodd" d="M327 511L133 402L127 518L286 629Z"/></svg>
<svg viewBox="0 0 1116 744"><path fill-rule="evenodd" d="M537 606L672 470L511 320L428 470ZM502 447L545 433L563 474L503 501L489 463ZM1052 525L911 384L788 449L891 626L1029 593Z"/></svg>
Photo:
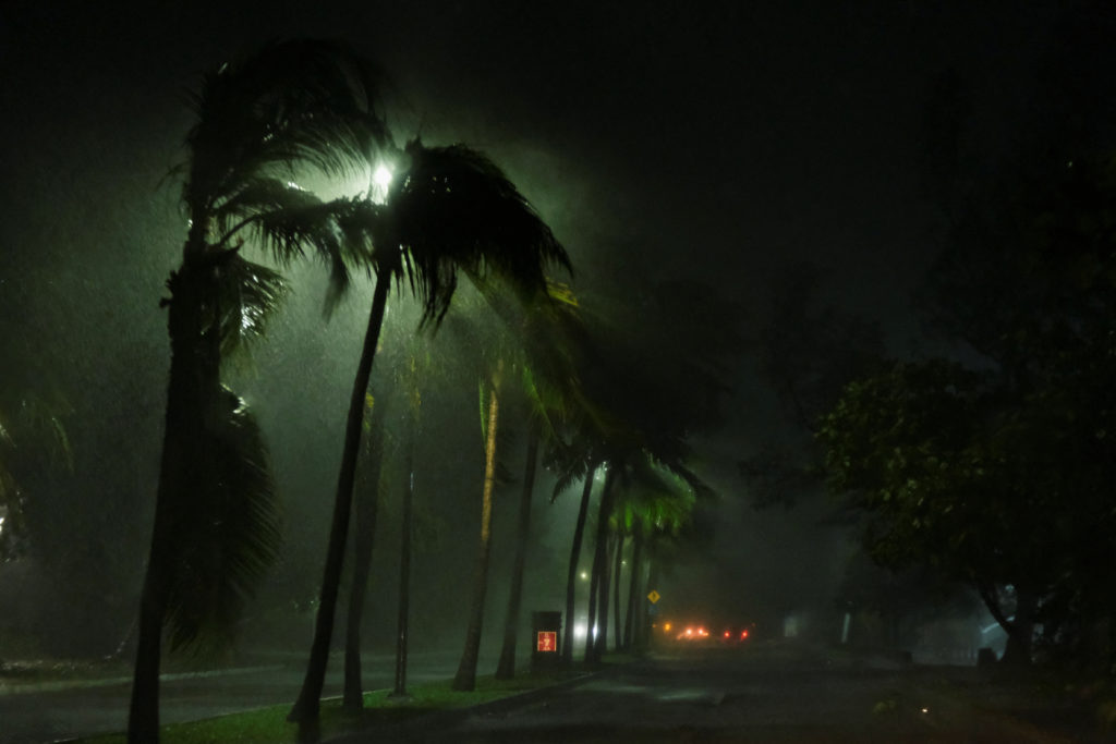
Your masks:
<svg viewBox="0 0 1116 744"><path fill-rule="evenodd" d="M1000 684L1000 687L1003 685ZM1016 689L1016 688L1012 688ZM1010 694L1019 695L1018 692ZM335 740L454 744L1100 742L1086 719L1036 723L970 669L801 648L711 650L628 665L458 718ZM1009 695L1010 696L1010 695ZM999 705L987 704L998 699ZM1048 712L1049 713L1049 712Z"/></svg>

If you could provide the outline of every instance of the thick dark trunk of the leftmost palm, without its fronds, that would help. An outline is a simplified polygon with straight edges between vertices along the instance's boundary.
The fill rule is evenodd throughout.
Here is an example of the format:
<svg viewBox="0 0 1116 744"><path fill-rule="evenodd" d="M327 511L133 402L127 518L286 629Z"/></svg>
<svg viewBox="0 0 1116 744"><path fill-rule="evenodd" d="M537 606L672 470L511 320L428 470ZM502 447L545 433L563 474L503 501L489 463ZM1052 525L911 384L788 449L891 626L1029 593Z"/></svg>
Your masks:
<svg viewBox="0 0 1116 744"><path fill-rule="evenodd" d="M174 561L180 553L180 531L189 495L204 477L201 462L208 460L205 413L220 392L220 329L208 328L204 308L215 294L212 265L202 257L200 239L187 243L182 268L167 281L167 334L171 338L171 374L167 385L163 454L151 552L140 600L136 661L128 709L129 744L158 741L158 670L163 621L166 618Z"/></svg>

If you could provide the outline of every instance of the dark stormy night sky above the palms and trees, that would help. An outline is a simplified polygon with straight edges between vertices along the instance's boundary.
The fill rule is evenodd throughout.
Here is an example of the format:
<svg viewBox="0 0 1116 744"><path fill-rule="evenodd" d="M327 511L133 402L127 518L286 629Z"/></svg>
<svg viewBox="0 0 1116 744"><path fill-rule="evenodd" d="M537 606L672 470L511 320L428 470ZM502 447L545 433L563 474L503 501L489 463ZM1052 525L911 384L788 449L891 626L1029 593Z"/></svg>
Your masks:
<svg viewBox="0 0 1116 744"><path fill-rule="evenodd" d="M932 80L960 71L994 153L1026 125L1040 62L1074 48L1056 22L1071 4L9 0L0 308L90 394L118 390L129 365L160 380L154 306L182 240L160 181L189 126L183 93L264 40L325 36L392 76L397 136L464 141L502 164L591 292L690 278L740 302L732 322L748 330L780 270L809 262L830 271L838 305L905 346L910 293L937 248L917 170ZM734 381L713 467L729 489L747 446L735 434L754 439L771 415L743 367ZM157 386L132 385L112 409L121 422L158 408ZM750 560L791 560L793 541L775 537L790 522L766 519Z"/></svg>

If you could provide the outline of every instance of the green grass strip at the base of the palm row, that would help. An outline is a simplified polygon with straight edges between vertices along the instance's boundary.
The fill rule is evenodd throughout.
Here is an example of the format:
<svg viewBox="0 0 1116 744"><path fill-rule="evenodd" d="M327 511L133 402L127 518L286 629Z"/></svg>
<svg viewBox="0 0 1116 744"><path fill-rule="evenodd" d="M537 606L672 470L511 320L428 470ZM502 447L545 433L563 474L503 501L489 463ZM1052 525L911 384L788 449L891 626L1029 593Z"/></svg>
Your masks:
<svg viewBox="0 0 1116 744"><path fill-rule="evenodd" d="M538 689L570 679L577 673L527 674L514 679L478 677L477 688L460 693L450 688L450 680L414 685L408 688L407 700L388 698L382 689L364 695L364 709L349 714L341 709L340 700L330 698L321 703L321 738L375 728L407 721L437 711L465 708L502 697ZM215 718L163 726L162 744L295 744L298 726L287 722L290 704L275 705L244 713L233 713ZM81 744L124 744L124 734L108 734L78 740Z"/></svg>

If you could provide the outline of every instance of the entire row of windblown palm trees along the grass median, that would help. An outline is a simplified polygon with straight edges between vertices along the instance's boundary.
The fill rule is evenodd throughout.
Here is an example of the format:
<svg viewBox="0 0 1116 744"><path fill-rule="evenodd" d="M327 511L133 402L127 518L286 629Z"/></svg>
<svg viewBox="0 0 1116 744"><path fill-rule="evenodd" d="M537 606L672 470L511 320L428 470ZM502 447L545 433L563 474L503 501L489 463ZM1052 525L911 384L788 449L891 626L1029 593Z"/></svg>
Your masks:
<svg viewBox="0 0 1116 744"><path fill-rule="evenodd" d="M359 612L376 519L385 409L393 398L387 390L371 395L369 379L389 299L410 293L421 308L421 325L436 329L446 319L459 279L465 278L502 329L502 340L484 345L475 366L484 412L484 485L473 599L455 688L471 689L475 683L498 431L507 396L529 400L531 414L500 660L503 676L514 673L526 540L540 458L561 474L556 495L575 480L585 480L570 576L580 560L584 531L591 525L596 542L589 627L603 629L607 624L613 584L619 607L619 571L609 571L609 551L618 566L625 543L632 541L635 564L623 628L618 609L616 617L616 637L625 644L634 642L638 632L638 612L633 608L642 607L636 598L645 581L638 564L646 564L655 535L676 531L694 495L708 491L685 467L683 426L662 422L651 426L639 416L604 405L610 394L583 379L585 365L599 361L604 345L593 340L569 288L548 278L552 269L571 267L546 223L483 154L463 145L430 147L419 139L395 147L378 109L381 87L381 76L346 49L297 40L222 65L203 77L194 98L195 124L186 137L185 161L175 170L183 184L189 229L182 262L171 273L169 297L163 300L171 373L141 600L129 742L158 737L164 637L172 649L227 642L252 587L280 549L262 436L244 402L222 385L222 364L264 332L285 291L276 270L242 255L246 245L262 249L280 268L304 258L323 261L331 279L327 307L349 288L352 272L364 271L375 281L345 426L314 641L290 719L312 729L318 718L346 543L354 532L345 700L349 707L360 705ZM369 181L365 193L324 200L297 185L310 174L366 177L382 161L394 164L385 193L375 193ZM407 371L394 378L396 387L411 390L406 397L412 437L420 431L421 356L413 352ZM368 442L362 443L366 429ZM648 436L652 429L655 435ZM354 503L362 452L372 458L373 493ZM596 520L590 521L590 489L598 471L606 476ZM410 484L404 493L406 518L413 496ZM350 525L354 514L356 530ZM410 525L404 534L410 534ZM404 593L407 564L404 539ZM573 597L571 578L567 618L573 617ZM571 626L567 621L567 655L573 648ZM588 644L587 660L599 658L605 636L598 632L597 640ZM398 639L396 688L403 692L405 597Z"/></svg>

